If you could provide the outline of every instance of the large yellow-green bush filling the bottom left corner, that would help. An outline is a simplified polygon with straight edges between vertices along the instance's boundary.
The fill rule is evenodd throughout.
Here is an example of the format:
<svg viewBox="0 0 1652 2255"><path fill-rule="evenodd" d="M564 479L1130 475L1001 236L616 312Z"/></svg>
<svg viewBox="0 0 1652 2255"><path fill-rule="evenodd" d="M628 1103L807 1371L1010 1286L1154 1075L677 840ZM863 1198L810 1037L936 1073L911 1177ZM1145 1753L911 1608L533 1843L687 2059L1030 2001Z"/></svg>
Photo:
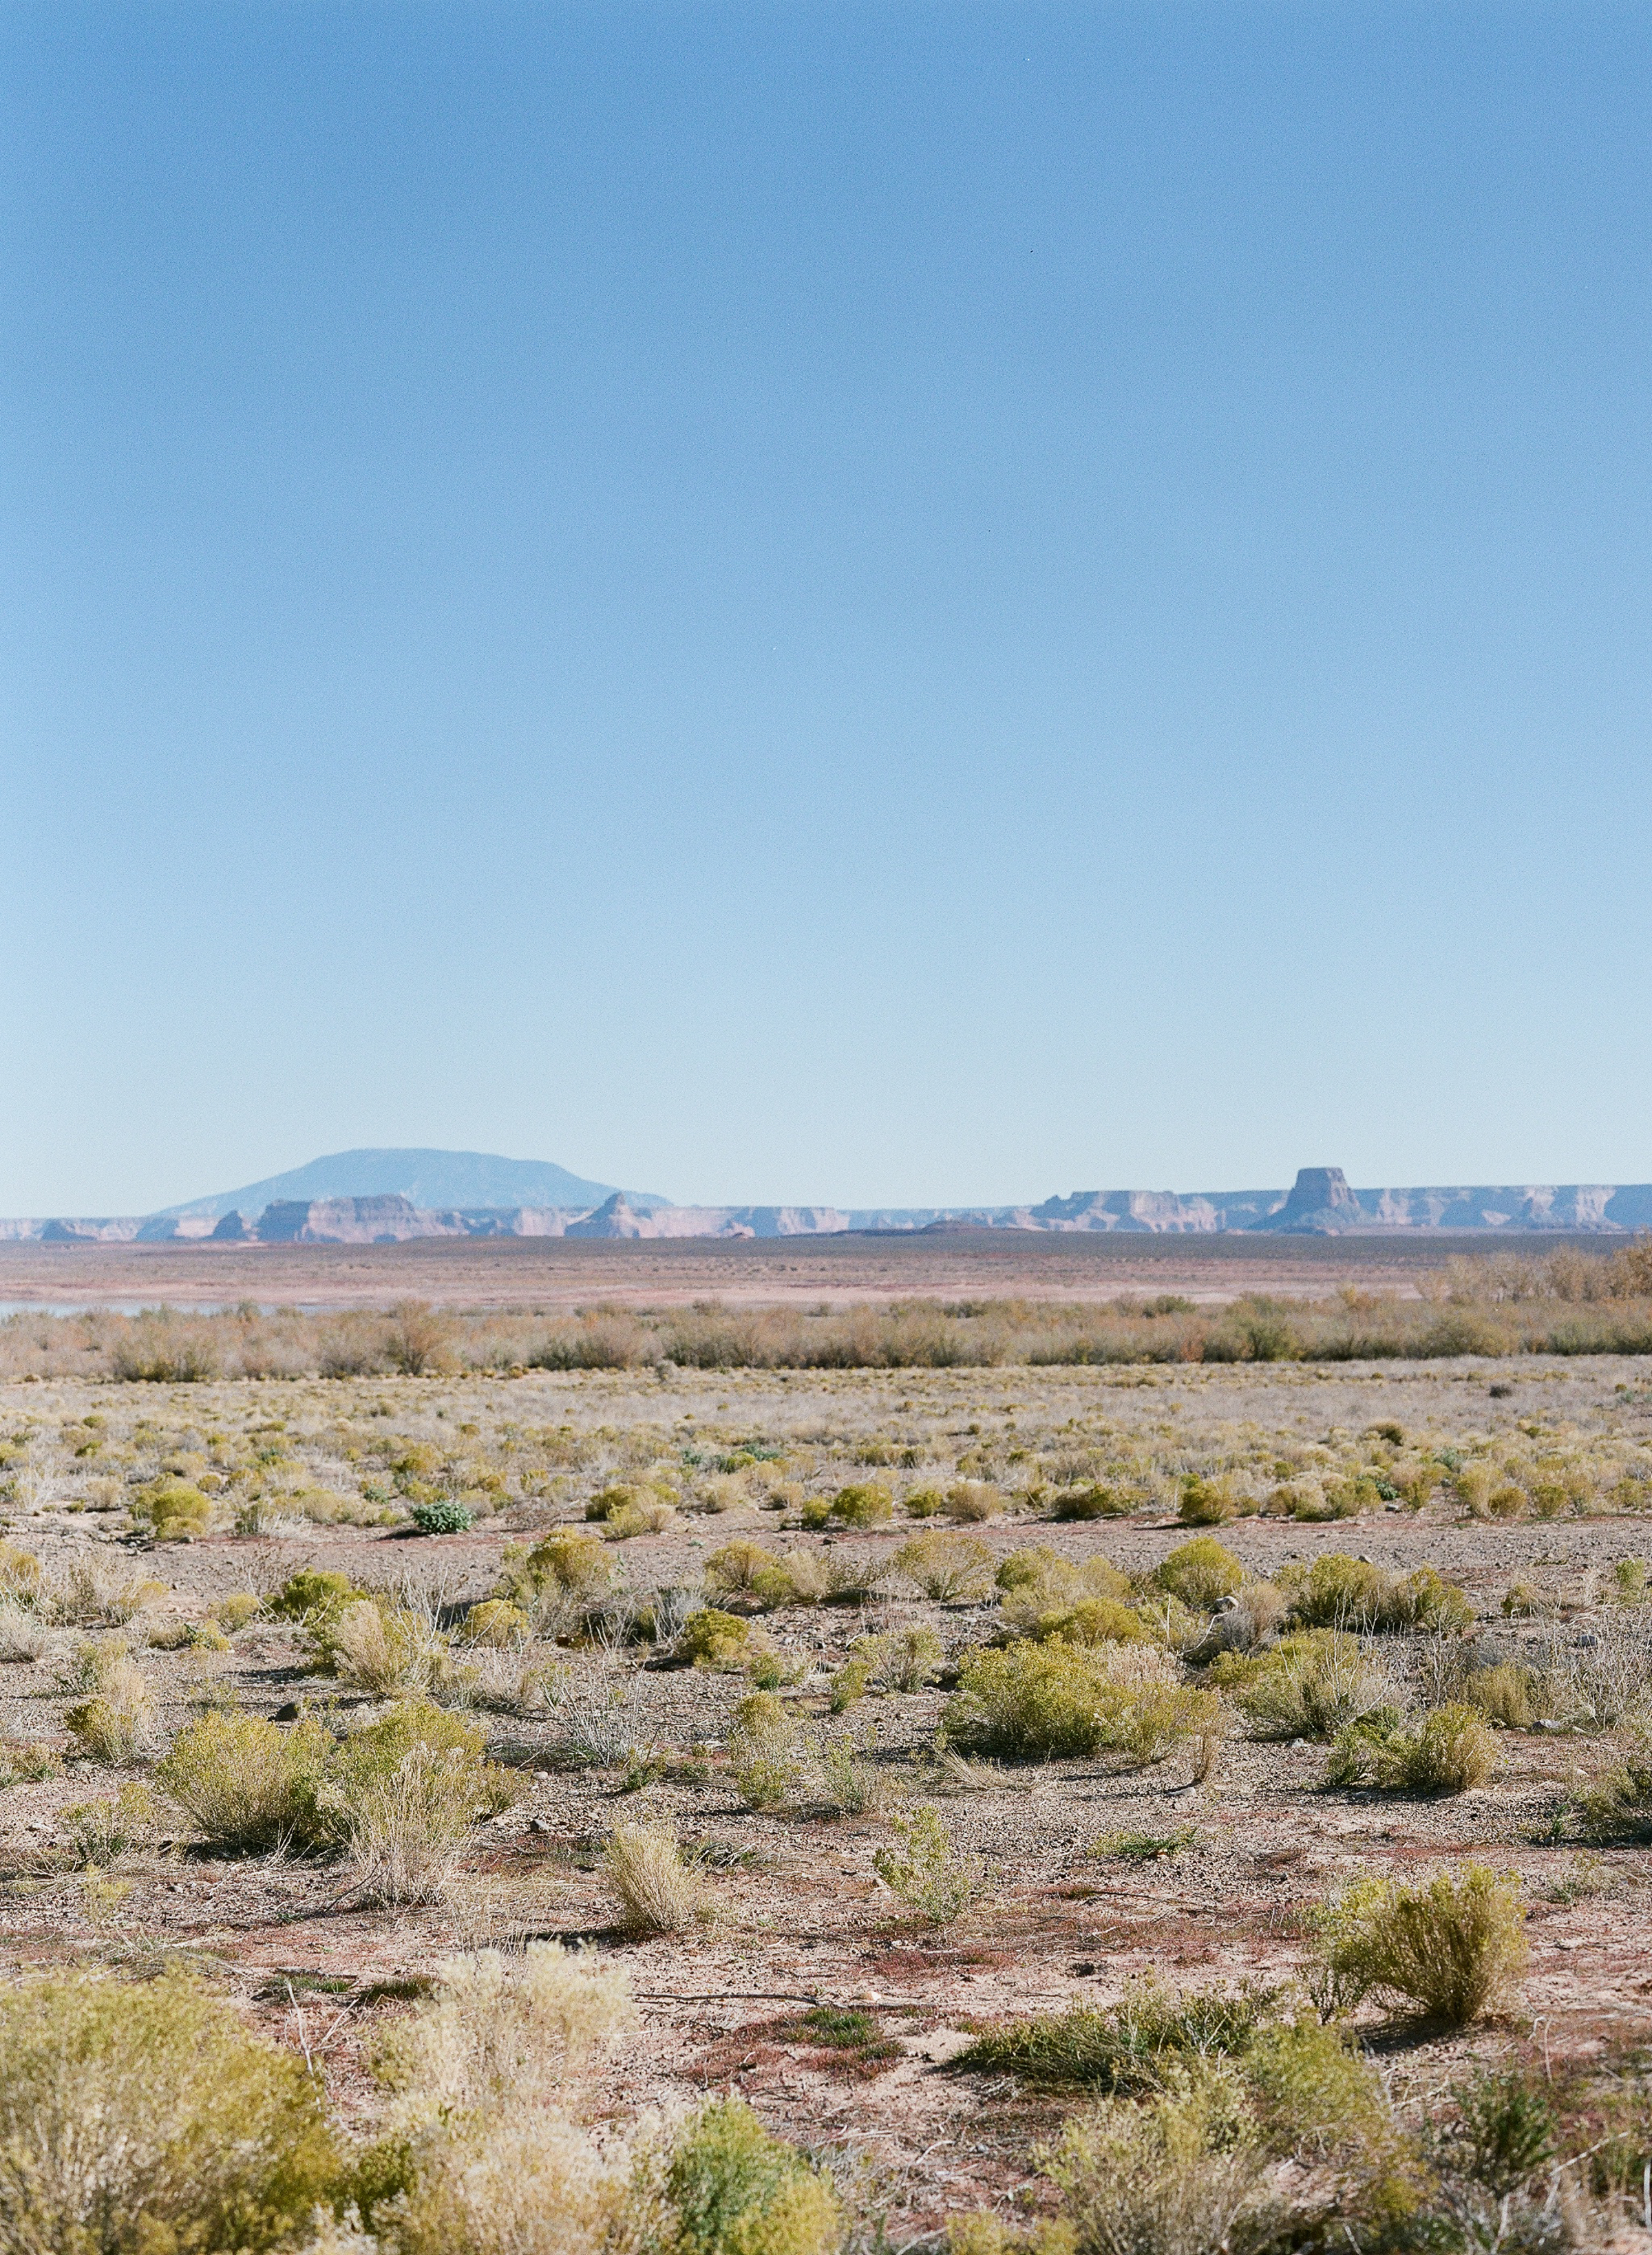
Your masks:
<svg viewBox="0 0 1652 2255"><path fill-rule="evenodd" d="M187 1975L0 1991L0 2241L18 2255L289 2248L336 2176L305 2061Z"/></svg>

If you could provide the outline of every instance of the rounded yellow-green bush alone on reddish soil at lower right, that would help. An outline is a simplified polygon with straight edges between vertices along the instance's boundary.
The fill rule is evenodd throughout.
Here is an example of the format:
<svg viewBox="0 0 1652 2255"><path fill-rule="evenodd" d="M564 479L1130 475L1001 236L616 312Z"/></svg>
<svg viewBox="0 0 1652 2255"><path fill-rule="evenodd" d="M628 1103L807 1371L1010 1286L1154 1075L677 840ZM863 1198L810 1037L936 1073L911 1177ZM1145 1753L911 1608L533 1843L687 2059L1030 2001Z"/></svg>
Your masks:
<svg viewBox="0 0 1652 2255"><path fill-rule="evenodd" d="M1514 1887L1485 1865L1422 1887L1359 1881L1323 1914L1316 2002L1325 2014L1377 1996L1440 2027L1467 2027L1512 1991L1526 1964L1523 1924Z"/></svg>

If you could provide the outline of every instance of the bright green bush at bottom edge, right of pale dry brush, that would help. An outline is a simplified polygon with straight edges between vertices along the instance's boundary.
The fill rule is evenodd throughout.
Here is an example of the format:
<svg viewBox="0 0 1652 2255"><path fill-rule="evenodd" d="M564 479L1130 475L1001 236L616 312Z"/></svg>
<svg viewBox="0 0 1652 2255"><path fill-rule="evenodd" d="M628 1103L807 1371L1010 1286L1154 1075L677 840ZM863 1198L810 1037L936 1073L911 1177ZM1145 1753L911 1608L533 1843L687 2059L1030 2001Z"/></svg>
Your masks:
<svg viewBox="0 0 1652 2255"><path fill-rule="evenodd" d="M713 2099L688 2120L664 2190L684 2255L828 2255L842 2235L831 2178L740 2099Z"/></svg>

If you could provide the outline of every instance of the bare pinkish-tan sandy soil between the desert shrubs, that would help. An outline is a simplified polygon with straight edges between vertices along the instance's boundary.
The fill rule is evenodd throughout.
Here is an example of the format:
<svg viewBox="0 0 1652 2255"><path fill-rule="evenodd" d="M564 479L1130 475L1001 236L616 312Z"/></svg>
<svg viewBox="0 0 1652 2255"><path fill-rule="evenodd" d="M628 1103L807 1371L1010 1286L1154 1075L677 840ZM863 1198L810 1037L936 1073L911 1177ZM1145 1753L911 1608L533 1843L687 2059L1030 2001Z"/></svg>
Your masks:
<svg viewBox="0 0 1652 2255"><path fill-rule="evenodd" d="M654 1254L657 1249L650 1249ZM361 1256L350 1256L361 1258ZM474 1254L469 1256L474 1258ZM817 1258L815 1254L799 1258ZM871 1254L867 1258L882 1258ZM1503 1373L1490 1373L1503 1376ZM307 1527L278 1536L208 1536L131 1556L120 1520L95 1502L79 1459L50 1454L68 1418L102 1414L108 1448L149 1421L140 1454L287 1421L289 1443L329 1486L366 1477L366 1457L341 1457L341 1434L467 1441L485 1448L506 1432L562 1432L589 1443L587 1461L551 1491L508 1500L469 1536L408 1540L377 1527ZM99 1556L122 1572L156 1572L172 1585L160 1615L199 1617L210 1597L271 1590L298 1565L343 1567L363 1583L415 1576L449 1599L483 1597L503 1542L548 1522L580 1518L585 1497L614 1466L648 1450L702 1454L742 1439L790 1445L806 1484L833 1491L869 1436L916 1454L916 1470L885 1473L896 1488L948 1477L964 1450L1056 1450L1106 1432L1131 1443L1196 1454L1237 1430L1277 1436L1361 1432L1397 1421L1440 1445L1462 1434L1526 1427L1578 1443L1652 1439L1652 1396L1638 1364L1521 1362L1512 1394L1490 1398L1487 1369L1420 1364L1338 1369L1187 1371L946 1371L788 1378L779 1373L679 1376L666 1385L632 1376L530 1376L521 1380L368 1380L348 1385L9 1387L0 1432L34 1425L34 1475L14 1500L9 1538L59 1569ZM156 1441L156 1432L162 1434ZM937 1470L939 1468L939 1470ZM907 1527L860 1536L779 1533L761 1504L684 1515L666 1533L618 1547L632 1588L693 1576L709 1549L733 1533L774 1547L887 1549ZM1101 1524L1002 1518L977 1531L995 1554L1049 1542L1063 1556L1104 1554L1126 1569L1158 1563L1187 1529L1155 1513ZM1449 1511L1383 1511L1356 1524L1241 1520L1223 1540L1259 1574L1286 1560L1345 1549L1395 1567L1438 1565L1474 1597L1487 1635L1589 1635L1609 1567L1645 1551L1647 1529L1623 1515L1487 1524ZM1544 1592L1548 1615L1505 1624L1501 1599L1514 1578ZM790 1608L767 1617L779 1648L799 1664L788 1698L812 1730L853 1730L891 1790L934 1797L923 1752L946 1703L943 1689L864 1700L842 1723L826 1716L826 1671L869 1628L923 1621L957 1660L984 1642L991 1606L943 1608L912 1597L867 1606ZM68 1639L63 1639L68 1642ZM1406 1639L1377 1639L1399 1675ZM167 1730L178 1730L203 1689L228 1687L253 1712L273 1714L327 1684L305 1673L296 1630L255 1621L228 1655L149 1651ZM1582 1858L1546 1845L1544 1829L1568 1781L1598 1766L1611 1739L1501 1734L1501 1772L1476 1793L1442 1802L1327 1793L1323 1745L1228 1739L1214 1775L1196 1784L1187 1757L1122 1772L1110 1763L1049 1763L1013 1772L993 1790L939 1797L955 1836L988 1867L977 1908L937 1935L903 1914L873 1872L889 1838L878 1818L828 1818L817 1809L752 1813L722 1766L729 1716L749 1689L740 1675L648 1666L645 1648L614 1662L648 1716L661 1768L632 1784L618 1770L560 1766L551 1727L535 1716L478 1714L497 1752L524 1784L521 1802L478 1829L449 1901L406 1912L354 1908L348 1874L280 1858L214 1856L174 1815L165 1842L122 1872L129 1892L99 1908L95 1890L52 1867L61 1815L115 1781L77 1766L0 1795L0 1964L38 1964L77 1953L133 1962L160 1946L196 1953L212 1980L253 2000L289 2041L327 2061L350 2104L366 2104L361 2045L375 2020L404 2009L397 1993L429 1975L454 1946L539 1933L589 1937L623 1955L643 2002L641 2036L621 2057L609 2099L616 2111L745 2093L763 2115L810 2145L837 2142L864 2158L873 2205L907 2237L948 2212L1002 2203L1029 2183L1029 2142L1061 2106L1009 2081L948 2072L966 2030L1011 2014L1113 2000L1144 1969L1171 1982L1221 1978L1286 1980L1302 1960L1302 1912L1359 1872L1415 1876L1480 1856L1519 1874L1532 1942L1521 2011L1451 2043L1395 2043L1401 2097L1438 2088L1474 2052L1532 2050L1553 2061L1605 2057L1652 2036L1652 1887L1647 1858L1607 1851ZM68 1694L56 1662L0 1669L0 1725L11 1739L68 1745ZM354 1705L341 1694L341 1705ZM618 1820L664 1818L711 1865L715 1921L693 1937L632 1942L616 1930L598 1849ZM1124 1865L1092 1854L1117 1829L1174 1833L1194 1842L1174 1860ZM61 1858L59 1858L61 1863ZM898 2045L891 2061L855 2061L799 2039L788 2020L808 2002L864 2005Z"/></svg>

